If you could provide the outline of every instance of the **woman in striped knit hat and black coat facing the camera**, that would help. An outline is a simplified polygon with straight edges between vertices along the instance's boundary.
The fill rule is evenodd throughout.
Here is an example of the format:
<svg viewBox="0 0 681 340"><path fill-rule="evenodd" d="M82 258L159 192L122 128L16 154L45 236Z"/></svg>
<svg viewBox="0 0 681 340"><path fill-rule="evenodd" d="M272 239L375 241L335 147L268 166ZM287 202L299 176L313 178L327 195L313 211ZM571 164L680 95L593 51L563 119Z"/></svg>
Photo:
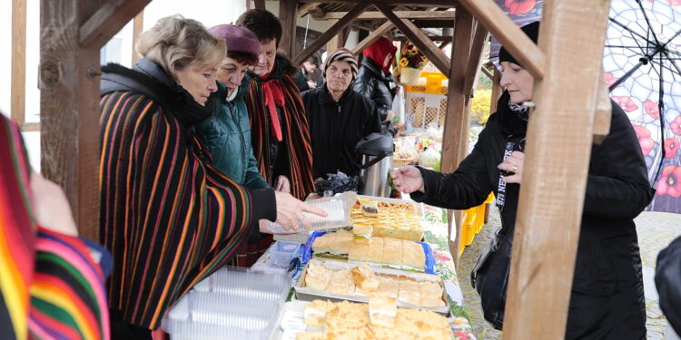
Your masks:
<svg viewBox="0 0 681 340"><path fill-rule="evenodd" d="M331 53L323 71L324 85L302 92L310 124L312 175L325 178L338 170L357 175L361 158L355 145L371 132L380 132L379 112L369 98L350 89L357 75L357 60L350 51Z"/></svg>

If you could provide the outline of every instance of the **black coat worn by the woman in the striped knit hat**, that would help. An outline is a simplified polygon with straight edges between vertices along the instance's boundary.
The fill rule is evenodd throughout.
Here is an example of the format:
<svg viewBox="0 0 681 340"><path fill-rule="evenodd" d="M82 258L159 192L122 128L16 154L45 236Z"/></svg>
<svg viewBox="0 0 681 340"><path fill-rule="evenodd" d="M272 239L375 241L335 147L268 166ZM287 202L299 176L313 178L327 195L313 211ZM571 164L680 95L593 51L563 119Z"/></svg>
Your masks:
<svg viewBox="0 0 681 340"><path fill-rule="evenodd" d="M361 156L355 153L355 145L371 132L380 132L376 106L352 89L335 102L326 83L301 96L310 125L312 176L326 178L338 170L359 175Z"/></svg>

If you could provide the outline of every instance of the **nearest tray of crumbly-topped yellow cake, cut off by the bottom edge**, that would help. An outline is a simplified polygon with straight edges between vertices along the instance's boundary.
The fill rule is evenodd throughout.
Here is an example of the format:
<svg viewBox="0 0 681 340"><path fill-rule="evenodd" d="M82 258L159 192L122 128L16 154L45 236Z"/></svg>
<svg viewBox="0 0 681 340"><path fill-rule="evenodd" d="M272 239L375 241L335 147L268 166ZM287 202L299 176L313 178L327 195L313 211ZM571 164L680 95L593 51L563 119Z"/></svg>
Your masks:
<svg viewBox="0 0 681 340"><path fill-rule="evenodd" d="M444 316L400 308L394 298L386 296L371 297L368 304L323 299L287 302L280 327L281 340L453 338Z"/></svg>

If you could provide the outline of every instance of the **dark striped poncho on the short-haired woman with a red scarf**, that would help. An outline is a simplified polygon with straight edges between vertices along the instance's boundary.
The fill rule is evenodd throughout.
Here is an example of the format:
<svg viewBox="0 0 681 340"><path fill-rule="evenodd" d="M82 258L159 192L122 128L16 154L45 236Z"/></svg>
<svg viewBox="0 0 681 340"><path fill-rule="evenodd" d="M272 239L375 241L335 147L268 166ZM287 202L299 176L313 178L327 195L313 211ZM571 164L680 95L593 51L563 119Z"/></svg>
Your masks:
<svg viewBox="0 0 681 340"><path fill-rule="evenodd" d="M277 56L274 70L265 79L252 74L251 90L245 98L251 119L251 139L253 154L258 161L258 169L262 177L274 185L275 174L271 173L270 145L276 141L272 135L271 117L265 104L265 94L262 87L265 83L276 86L283 94L281 106L281 134L278 157L287 157L285 172L290 174L291 195L296 199L305 199L314 191L312 179L312 148L310 142L310 128L302 105L301 92L298 91L289 74L283 73L287 65ZM274 141L272 141L274 140ZM283 150L282 150L283 149Z"/></svg>

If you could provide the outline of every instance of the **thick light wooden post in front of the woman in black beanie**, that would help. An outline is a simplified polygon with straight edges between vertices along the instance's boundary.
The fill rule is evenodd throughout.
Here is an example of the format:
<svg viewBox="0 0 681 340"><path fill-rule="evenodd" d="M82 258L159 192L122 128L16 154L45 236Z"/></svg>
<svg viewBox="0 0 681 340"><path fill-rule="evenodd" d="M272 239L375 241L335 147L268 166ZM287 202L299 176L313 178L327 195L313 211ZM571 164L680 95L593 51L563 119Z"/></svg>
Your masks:
<svg viewBox="0 0 681 340"><path fill-rule="evenodd" d="M504 339L565 336L608 10L609 1L544 3L547 68L529 114Z"/></svg>

